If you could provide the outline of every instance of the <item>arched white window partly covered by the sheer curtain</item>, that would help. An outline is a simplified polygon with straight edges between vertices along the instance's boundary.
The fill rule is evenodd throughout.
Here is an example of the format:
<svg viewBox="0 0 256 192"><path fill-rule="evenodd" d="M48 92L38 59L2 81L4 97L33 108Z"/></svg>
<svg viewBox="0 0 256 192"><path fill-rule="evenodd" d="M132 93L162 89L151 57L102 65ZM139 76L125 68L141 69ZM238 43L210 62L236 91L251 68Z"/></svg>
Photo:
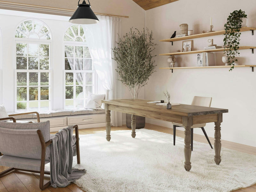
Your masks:
<svg viewBox="0 0 256 192"><path fill-rule="evenodd" d="M65 108L84 108L96 91L96 74L81 25L72 25L64 35Z"/></svg>

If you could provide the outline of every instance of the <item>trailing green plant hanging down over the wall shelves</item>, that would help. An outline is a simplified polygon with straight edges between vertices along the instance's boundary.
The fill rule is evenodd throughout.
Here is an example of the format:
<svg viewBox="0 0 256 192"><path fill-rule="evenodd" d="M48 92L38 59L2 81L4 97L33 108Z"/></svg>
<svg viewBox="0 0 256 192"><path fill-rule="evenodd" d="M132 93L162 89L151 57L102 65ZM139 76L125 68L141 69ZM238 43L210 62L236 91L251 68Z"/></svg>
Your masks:
<svg viewBox="0 0 256 192"><path fill-rule="evenodd" d="M225 26L225 34L224 34L224 52L227 54L227 62L231 65L229 71L234 69L234 64L237 59L235 59L236 55L239 55L239 41L241 32L240 29L242 27L242 19L247 18L247 15L241 9L239 11L234 11L230 13L228 16L227 23Z"/></svg>

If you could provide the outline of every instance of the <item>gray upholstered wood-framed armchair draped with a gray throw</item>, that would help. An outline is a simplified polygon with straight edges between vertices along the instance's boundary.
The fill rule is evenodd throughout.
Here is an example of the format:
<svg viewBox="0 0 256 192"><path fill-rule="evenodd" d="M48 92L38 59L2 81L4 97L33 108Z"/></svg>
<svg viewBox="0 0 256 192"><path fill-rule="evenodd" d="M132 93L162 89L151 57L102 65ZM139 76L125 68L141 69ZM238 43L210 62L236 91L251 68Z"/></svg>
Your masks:
<svg viewBox="0 0 256 192"><path fill-rule="evenodd" d="M76 132L77 163L80 164L78 126ZM73 134L73 133L72 133ZM11 167L0 173L0 177L12 170L40 173L40 189L51 185L44 185L44 165L50 162L50 122L42 123L6 123L0 122L0 165Z"/></svg>

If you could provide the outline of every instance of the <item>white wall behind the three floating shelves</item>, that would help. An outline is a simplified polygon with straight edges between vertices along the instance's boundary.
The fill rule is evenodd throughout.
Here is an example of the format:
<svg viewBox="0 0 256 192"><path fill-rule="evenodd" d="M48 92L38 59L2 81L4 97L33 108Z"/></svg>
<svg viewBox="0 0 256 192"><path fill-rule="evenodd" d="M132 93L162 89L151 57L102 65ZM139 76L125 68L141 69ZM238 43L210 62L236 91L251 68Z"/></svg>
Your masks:
<svg viewBox="0 0 256 192"><path fill-rule="evenodd" d="M179 25L188 23L188 29L195 34L209 30L212 17L213 30L223 30L230 12L242 9L248 15L247 26L256 27L255 0L180 0L146 11L146 26L153 30L156 41L170 38L174 31L179 34ZM256 31L254 31L256 33ZM208 45L207 40L214 39L214 44L223 45L223 36L193 39L193 50L202 50ZM182 41L158 42L155 53L176 52L182 48ZM256 36L251 31L242 32L241 46L255 46ZM241 50L238 64L255 65L256 54L251 50ZM216 54L216 64L224 65L222 53ZM145 97L148 100L165 99L163 91L171 92L171 101L190 104L194 96L212 97L212 107L227 108L223 114L222 139L256 147L256 72L251 68L211 69L159 69L168 67L168 56L156 57L156 70L146 86ZM176 56L176 67L196 66L196 54ZM255 70L255 69L254 69ZM172 127L171 123L148 119L147 122ZM183 128L181 128L183 130ZM205 130L214 137L214 124L206 125ZM202 134L201 129L195 133Z"/></svg>

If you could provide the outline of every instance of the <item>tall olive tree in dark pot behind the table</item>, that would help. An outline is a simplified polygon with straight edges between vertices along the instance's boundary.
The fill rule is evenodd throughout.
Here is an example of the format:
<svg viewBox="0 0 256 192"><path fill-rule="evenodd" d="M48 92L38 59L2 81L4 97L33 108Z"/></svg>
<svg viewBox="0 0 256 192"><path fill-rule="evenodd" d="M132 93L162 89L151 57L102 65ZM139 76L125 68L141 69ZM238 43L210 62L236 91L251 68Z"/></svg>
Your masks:
<svg viewBox="0 0 256 192"><path fill-rule="evenodd" d="M114 60L117 62L116 72L121 81L129 90L132 99L138 99L140 89L148 83L156 65L152 55L157 44L153 43L153 32L148 29L135 31L130 29L123 38L118 39L113 49ZM131 128L134 115L126 114L126 126ZM136 116L136 129L145 126L145 117Z"/></svg>

